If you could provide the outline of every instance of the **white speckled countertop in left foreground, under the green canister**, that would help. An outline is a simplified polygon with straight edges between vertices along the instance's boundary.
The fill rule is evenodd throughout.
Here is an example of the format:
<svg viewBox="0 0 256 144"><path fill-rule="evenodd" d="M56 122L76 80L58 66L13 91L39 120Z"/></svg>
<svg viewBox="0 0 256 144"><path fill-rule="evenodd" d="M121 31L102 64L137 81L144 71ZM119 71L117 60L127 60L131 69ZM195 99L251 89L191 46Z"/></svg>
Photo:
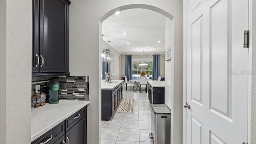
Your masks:
<svg viewBox="0 0 256 144"><path fill-rule="evenodd" d="M83 100L60 100L58 104L47 103L42 108L32 108L31 142L89 103Z"/></svg>

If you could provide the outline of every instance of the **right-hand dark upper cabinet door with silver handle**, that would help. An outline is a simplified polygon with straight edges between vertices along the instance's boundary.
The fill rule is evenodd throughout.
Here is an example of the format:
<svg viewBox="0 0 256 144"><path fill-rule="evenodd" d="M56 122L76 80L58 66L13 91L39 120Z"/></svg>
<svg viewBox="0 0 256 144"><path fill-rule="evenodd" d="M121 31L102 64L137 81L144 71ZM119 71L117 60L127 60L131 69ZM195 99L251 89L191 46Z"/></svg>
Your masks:
<svg viewBox="0 0 256 144"><path fill-rule="evenodd" d="M68 72L68 2L40 0L40 72Z"/></svg>

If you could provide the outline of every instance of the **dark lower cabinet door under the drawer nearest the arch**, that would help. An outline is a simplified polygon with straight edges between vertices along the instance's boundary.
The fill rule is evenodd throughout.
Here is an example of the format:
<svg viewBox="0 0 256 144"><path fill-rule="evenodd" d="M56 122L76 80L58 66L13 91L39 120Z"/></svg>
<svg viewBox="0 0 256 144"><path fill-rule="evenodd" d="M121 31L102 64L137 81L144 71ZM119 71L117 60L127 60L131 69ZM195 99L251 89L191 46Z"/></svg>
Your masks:
<svg viewBox="0 0 256 144"><path fill-rule="evenodd" d="M66 144L86 144L86 116L66 132Z"/></svg>

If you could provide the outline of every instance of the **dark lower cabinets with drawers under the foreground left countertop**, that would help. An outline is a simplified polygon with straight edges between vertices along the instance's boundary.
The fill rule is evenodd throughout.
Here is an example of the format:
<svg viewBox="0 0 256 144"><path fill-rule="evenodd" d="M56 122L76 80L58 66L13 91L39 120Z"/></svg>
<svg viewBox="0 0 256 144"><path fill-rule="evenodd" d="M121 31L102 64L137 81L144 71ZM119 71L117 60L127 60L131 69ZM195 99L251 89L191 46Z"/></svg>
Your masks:
<svg viewBox="0 0 256 144"><path fill-rule="evenodd" d="M31 142L31 144L86 144L87 106Z"/></svg>

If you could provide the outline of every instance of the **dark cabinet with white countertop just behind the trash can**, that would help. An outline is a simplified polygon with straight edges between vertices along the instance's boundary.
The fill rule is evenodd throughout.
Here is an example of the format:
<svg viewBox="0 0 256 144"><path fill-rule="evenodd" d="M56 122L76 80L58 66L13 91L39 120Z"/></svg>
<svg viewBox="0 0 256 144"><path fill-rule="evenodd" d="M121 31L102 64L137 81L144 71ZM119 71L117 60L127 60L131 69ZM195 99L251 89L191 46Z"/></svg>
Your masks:
<svg viewBox="0 0 256 144"><path fill-rule="evenodd" d="M164 104L163 81L148 81L148 100L150 104Z"/></svg>

